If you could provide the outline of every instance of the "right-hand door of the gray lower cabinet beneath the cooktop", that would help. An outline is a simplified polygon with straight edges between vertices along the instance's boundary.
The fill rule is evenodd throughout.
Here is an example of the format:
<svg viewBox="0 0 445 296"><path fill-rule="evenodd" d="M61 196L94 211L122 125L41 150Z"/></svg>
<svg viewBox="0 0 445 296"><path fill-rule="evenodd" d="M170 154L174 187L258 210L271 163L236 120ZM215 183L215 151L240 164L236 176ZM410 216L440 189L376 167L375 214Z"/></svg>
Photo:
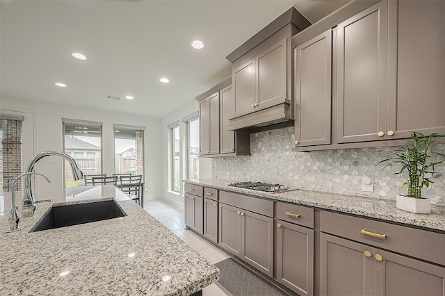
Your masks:
<svg viewBox="0 0 445 296"><path fill-rule="evenodd" d="M273 219L241 211L244 261L273 277Z"/></svg>

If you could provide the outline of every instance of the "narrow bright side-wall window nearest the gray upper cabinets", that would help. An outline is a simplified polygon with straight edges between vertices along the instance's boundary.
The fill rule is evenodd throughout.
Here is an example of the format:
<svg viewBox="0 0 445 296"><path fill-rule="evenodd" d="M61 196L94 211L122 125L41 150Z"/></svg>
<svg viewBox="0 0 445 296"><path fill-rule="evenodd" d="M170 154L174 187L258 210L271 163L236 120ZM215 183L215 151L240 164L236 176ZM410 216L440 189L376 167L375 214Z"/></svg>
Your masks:
<svg viewBox="0 0 445 296"><path fill-rule="evenodd" d="M199 179L200 177L200 117L197 112L182 119L186 123L187 133L187 179Z"/></svg>

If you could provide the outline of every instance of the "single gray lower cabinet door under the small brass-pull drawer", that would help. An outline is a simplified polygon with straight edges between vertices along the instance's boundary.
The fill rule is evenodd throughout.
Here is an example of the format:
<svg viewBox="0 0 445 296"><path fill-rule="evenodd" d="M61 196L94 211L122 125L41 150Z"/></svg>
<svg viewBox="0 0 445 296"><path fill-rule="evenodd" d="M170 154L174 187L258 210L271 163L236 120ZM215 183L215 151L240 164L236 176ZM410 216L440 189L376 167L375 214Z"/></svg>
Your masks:
<svg viewBox="0 0 445 296"><path fill-rule="evenodd" d="M276 279L299 295L314 294L314 230L277 224Z"/></svg>

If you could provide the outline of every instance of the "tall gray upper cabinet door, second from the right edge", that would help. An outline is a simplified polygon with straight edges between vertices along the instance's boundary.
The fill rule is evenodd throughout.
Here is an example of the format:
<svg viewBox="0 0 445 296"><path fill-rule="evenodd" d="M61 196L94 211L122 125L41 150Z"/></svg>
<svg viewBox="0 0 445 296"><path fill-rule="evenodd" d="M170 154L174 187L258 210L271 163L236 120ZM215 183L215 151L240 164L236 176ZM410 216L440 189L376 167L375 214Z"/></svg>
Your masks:
<svg viewBox="0 0 445 296"><path fill-rule="evenodd" d="M387 28L387 1L337 26L339 143L385 138Z"/></svg>

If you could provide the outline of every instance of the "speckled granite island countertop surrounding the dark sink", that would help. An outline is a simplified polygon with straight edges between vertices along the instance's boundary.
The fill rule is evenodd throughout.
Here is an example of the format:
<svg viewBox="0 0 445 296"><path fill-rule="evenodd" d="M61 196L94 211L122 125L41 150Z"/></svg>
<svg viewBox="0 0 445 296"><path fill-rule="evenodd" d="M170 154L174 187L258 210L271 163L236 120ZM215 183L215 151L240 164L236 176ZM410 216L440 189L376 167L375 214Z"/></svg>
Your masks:
<svg viewBox="0 0 445 296"><path fill-rule="evenodd" d="M190 295L220 278L218 268L113 185L35 191L37 200L52 202L38 203L14 233L5 232L7 194L0 197L1 295ZM110 197L127 216L29 233L53 202Z"/></svg>

